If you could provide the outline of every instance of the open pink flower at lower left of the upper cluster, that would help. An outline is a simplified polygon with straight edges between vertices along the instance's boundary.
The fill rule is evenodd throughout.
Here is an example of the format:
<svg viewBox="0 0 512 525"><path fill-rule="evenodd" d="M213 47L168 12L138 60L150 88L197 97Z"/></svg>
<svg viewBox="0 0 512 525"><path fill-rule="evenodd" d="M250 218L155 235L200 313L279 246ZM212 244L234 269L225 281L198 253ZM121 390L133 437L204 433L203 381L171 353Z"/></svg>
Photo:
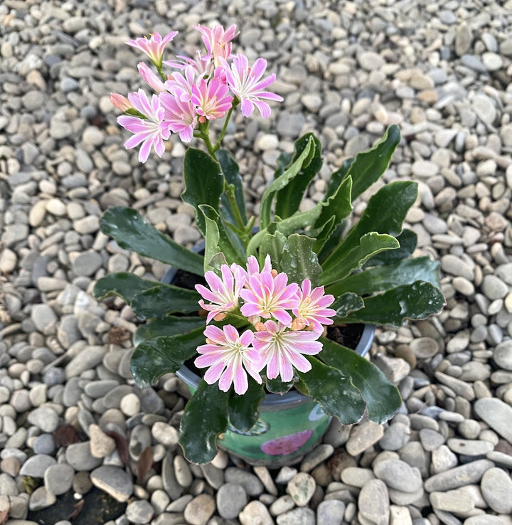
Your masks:
<svg viewBox="0 0 512 525"><path fill-rule="evenodd" d="M164 140L169 139L171 132L169 132L166 122L164 122L164 108L160 105L159 97L152 95L151 102L149 102L146 93L143 90L139 90L137 93L129 93L128 100L134 109L144 115L145 118L140 119L129 115L117 117L117 122L124 129L134 133L133 137L124 142L124 147L131 149L142 142L142 147L139 151L140 162L146 162L151 147L161 157L165 151Z"/></svg>

